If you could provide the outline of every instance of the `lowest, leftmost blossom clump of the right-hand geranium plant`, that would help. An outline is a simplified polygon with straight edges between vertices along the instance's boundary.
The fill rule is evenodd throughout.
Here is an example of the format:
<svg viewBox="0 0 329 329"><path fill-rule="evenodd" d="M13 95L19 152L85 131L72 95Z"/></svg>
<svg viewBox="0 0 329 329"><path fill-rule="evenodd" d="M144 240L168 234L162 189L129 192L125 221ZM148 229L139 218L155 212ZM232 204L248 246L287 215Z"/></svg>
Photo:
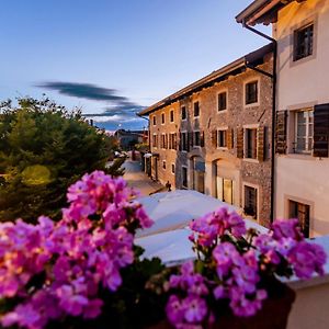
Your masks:
<svg viewBox="0 0 329 329"><path fill-rule="evenodd" d="M213 322L214 316L205 299L208 295L206 280L194 273L193 262L183 264L179 275L171 275L167 288L175 292L166 307L168 319L175 328L203 328L203 324Z"/></svg>

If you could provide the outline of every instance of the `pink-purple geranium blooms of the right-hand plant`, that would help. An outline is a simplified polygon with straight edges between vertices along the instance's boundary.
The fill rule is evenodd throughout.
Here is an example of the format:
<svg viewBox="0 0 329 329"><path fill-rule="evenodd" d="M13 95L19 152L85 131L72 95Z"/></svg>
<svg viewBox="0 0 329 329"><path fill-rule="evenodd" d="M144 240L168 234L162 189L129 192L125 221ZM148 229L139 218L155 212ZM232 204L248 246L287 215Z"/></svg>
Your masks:
<svg viewBox="0 0 329 329"><path fill-rule="evenodd" d="M167 317L175 328L201 328L213 321L220 300L236 316L253 316L269 297L269 279L324 273L326 252L304 239L297 219L275 220L269 232L258 234L247 230L238 214L219 208L192 222L190 228L200 270L194 273L193 264L186 263L181 275L169 280ZM179 295L178 288L185 294Z"/></svg>

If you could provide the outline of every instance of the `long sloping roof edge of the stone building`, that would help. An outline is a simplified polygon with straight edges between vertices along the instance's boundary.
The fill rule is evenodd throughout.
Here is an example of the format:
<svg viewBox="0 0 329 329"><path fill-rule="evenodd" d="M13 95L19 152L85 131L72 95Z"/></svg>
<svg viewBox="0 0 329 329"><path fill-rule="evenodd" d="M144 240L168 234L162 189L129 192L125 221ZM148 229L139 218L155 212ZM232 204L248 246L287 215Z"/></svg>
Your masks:
<svg viewBox="0 0 329 329"><path fill-rule="evenodd" d="M204 78L184 87L183 89L172 93L171 95L167 97L166 99L150 105L149 107L143 110L138 113L139 116L148 115L161 107L168 106L169 104L183 99L185 97L191 95L194 92L197 92L204 88L208 88L216 82L223 81L227 79L229 76L238 75L246 69L246 64L250 65L260 65L264 63L264 56L273 52L273 45L268 44L239 59L222 67L218 70L213 71L212 73L205 76Z"/></svg>

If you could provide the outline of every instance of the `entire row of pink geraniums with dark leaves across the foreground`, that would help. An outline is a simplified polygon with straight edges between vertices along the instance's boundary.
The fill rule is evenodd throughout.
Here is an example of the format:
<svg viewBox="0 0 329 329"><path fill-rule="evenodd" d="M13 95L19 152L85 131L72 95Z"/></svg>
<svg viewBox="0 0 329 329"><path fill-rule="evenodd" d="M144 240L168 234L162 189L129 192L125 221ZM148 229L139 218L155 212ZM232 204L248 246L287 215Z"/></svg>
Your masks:
<svg viewBox="0 0 329 329"><path fill-rule="evenodd" d="M258 234L226 208L191 223L194 262L140 260L134 236L152 220L135 195L123 179L94 171L69 188L58 223L0 224L1 326L148 328L167 317L175 328L203 328L228 310L253 316L275 275L324 272L326 253L297 220Z"/></svg>

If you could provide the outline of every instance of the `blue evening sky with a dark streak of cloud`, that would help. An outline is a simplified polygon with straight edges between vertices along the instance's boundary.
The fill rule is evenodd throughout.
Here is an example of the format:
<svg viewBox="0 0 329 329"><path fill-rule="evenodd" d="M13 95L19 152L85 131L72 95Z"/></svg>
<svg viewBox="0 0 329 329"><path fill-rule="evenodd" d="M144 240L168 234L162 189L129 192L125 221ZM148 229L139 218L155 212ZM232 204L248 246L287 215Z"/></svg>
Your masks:
<svg viewBox="0 0 329 329"><path fill-rule="evenodd" d="M266 44L235 21L250 2L2 0L0 100L45 93L106 129L146 127L137 112Z"/></svg>

